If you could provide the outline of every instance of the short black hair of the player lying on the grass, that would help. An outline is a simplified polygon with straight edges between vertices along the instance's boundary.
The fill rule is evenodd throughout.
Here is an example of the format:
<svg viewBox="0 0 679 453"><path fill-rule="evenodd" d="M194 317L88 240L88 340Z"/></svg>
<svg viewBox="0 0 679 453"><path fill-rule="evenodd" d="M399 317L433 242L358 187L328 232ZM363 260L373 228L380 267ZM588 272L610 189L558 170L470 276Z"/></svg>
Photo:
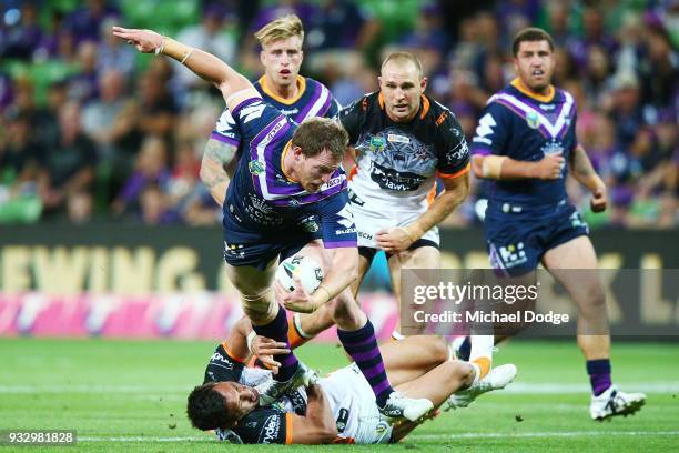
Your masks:
<svg viewBox="0 0 679 453"><path fill-rule="evenodd" d="M202 431L226 427L231 422L224 395L214 390L216 382L199 385L189 394L186 415L193 427Z"/></svg>

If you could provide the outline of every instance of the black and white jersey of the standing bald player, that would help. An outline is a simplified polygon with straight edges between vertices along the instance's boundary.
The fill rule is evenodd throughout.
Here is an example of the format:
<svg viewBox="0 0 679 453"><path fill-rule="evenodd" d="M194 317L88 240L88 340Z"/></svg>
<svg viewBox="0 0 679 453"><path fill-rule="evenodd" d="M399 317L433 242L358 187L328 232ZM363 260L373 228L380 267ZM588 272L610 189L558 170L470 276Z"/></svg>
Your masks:
<svg viewBox="0 0 679 453"><path fill-rule="evenodd" d="M356 149L349 194L358 245L376 248L377 230L404 226L420 217L436 195L436 178L452 179L469 170L469 151L455 115L422 97L407 123L395 123L382 93L365 95L340 112ZM438 232L423 239L438 243Z"/></svg>

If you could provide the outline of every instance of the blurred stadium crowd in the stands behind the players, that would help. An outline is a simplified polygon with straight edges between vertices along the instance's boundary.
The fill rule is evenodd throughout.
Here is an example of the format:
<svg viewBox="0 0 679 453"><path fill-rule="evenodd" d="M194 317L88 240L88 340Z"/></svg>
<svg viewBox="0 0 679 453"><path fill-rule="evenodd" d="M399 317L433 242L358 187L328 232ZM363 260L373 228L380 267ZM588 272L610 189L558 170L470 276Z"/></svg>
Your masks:
<svg viewBox="0 0 679 453"><path fill-rule="evenodd" d="M545 28L558 47L555 82L576 98L579 140L609 188L611 209L596 215L579 184L569 189L590 226L679 224L677 0L6 0L0 224L219 223L199 170L223 100L181 64L138 56L111 27L153 28L254 80L252 32L287 12L306 31L301 72L343 105L377 89L385 52L405 49L468 140L514 78L514 33ZM475 181L446 224L480 222L484 197Z"/></svg>

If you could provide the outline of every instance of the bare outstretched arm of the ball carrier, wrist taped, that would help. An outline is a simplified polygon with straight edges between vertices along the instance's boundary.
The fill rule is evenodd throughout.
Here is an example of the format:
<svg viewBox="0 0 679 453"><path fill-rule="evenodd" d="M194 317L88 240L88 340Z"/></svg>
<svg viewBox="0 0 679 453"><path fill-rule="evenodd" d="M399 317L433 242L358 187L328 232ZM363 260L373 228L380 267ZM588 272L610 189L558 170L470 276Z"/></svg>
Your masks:
<svg viewBox="0 0 679 453"><path fill-rule="evenodd" d="M232 99L233 94L249 89L256 93L246 78L211 53L182 44L153 30L113 27L112 31L114 36L126 40L142 53L162 53L183 63L196 76L213 83L222 92L229 108L239 102L239 99Z"/></svg>

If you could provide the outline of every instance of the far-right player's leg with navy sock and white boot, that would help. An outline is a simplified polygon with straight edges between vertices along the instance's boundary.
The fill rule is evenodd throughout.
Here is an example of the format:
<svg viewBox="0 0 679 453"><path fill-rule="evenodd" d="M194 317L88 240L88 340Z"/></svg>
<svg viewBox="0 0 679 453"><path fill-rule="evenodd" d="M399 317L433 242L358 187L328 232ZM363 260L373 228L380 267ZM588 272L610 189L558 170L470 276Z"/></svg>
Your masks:
<svg viewBox="0 0 679 453"><path fill-rule="evenodd" d="M592 390L591 417L600 421L614 415L634 414L646 403L646 395L620 392L611 383L606 296L589 238L578 236L549 250L543 262L578 305L578 345L587 359ZM569 272L569 269L581 271Z"/></svg>

